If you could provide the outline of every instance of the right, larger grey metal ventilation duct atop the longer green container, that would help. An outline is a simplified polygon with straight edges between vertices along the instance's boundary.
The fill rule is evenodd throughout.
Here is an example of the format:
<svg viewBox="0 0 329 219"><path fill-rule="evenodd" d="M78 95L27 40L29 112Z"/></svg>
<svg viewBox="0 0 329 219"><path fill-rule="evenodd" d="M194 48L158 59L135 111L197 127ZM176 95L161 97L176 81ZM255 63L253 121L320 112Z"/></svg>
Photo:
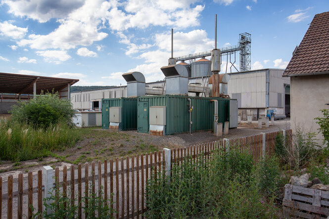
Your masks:
<svg viewBox="0 0 329 219"><path fill-rule="evenodd" d="M166 94L188 93L188 68L186 65L169 65L161 68L166 77Z"/></svg>

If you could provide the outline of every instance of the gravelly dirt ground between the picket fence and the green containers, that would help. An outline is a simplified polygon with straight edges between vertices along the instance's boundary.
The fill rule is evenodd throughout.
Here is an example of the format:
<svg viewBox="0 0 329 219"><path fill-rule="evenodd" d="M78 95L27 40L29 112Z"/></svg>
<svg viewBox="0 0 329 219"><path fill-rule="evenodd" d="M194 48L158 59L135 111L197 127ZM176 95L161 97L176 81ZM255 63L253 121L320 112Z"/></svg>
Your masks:
<svg viewBox="0 0 329 219"><path fill-rule="evenodd" d="M104 161L116 157L127 157L146 152L154 152L164 147L175 148L193 144L216 141L221 138L238 138L250 136L260 132L278 131L279 129L289 129L289 120L275 121L274 126L258 129L258 123L241 123L238 128L230 129L228 135L216 137L212 131L199 131L180 133L168 136L153 136L139 133L137 131L107 131L98 128L88 129L83 140L80 140L72 148L64 151L54 152L53 156L41 158L39 160L29 160L24 162L0 161L0 176L4 173L18 175L19 172L29 172L40 169L42 166L52 167L66 164L84 164L85 162Z"/></svg>

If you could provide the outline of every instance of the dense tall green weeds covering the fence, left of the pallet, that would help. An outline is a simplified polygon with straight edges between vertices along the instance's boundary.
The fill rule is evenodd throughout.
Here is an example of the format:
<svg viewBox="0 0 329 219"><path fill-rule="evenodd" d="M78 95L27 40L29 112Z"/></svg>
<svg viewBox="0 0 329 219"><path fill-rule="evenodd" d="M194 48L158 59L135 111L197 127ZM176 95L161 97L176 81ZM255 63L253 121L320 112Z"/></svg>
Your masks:
<svg viewBox="0 0 329 219"><path fill-rule="evenodd" d="M147 218L275 218L279 164L253 166L248 152L214 151L213 158L173 165L170 183L153 174L146 186Z"/></svg>

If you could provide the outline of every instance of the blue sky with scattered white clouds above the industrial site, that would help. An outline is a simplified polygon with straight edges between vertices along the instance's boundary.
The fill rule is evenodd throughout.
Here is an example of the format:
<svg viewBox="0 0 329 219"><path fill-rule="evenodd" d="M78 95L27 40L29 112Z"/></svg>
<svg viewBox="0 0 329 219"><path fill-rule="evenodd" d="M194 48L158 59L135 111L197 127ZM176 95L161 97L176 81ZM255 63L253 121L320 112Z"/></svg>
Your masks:
<svg viewBox="0 0 329 219"><path fill-rule="evenodd" d="M217 47L247 32L252 69L285 68L315 14L326 11L329 0L0 0L0 72L79 86L126 85L121 75L133 71L163 80L171 28L174 57L211 50L215 14Z"/></svg>

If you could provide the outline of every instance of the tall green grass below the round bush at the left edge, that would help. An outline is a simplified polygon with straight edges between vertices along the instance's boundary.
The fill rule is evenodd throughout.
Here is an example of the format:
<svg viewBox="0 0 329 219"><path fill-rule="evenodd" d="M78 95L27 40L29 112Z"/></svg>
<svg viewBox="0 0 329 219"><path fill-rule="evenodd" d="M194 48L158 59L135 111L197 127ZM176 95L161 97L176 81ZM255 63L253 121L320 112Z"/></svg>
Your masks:
<svg viewBox="0 0 329 219"><path fill-rule="evenodd" d="M55 150L72 147L81 139L81 132L59 122L46 129L0 119L0 160L25 161L47 157Z"/></svg>

